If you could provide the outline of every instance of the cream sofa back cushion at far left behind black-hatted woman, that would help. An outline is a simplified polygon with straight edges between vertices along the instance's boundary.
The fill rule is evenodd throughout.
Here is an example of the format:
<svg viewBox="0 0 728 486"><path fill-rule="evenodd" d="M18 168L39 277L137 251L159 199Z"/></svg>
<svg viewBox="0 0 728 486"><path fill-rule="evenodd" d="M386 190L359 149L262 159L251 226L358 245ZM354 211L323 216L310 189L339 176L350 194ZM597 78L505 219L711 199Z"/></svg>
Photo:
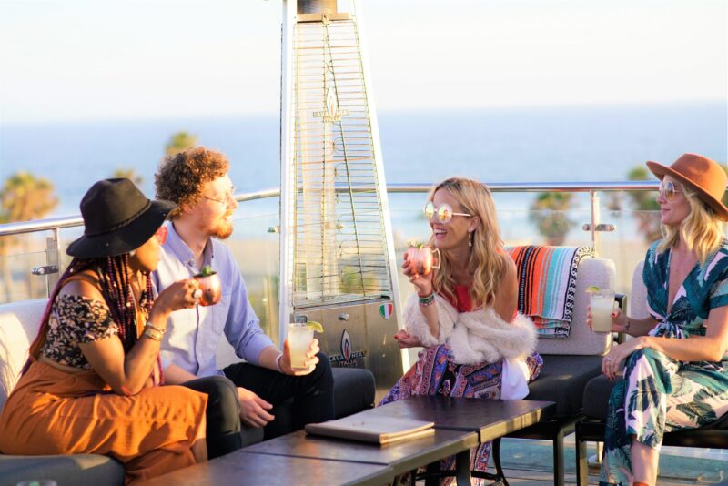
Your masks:
<svg viewBox="0 0 728 486"><path fill-rule="evenodd" d="M0 306L0 410L20 378L47 301L24 300Z"/></svg>

